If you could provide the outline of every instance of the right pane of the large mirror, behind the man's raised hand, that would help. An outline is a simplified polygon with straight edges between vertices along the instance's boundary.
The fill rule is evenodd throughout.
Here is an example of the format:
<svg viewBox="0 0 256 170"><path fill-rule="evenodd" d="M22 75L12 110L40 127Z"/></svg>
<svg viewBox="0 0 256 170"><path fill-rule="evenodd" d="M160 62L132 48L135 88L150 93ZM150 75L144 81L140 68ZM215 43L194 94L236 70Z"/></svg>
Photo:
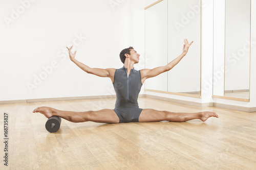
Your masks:
<svg viewBox="0 0 256 170"><path fill-rule="evenodd" d="M200 96L201 1L168 1L169 62L181 53L184 38L194 42L187 55L168 72L168 91Z"/></svg>

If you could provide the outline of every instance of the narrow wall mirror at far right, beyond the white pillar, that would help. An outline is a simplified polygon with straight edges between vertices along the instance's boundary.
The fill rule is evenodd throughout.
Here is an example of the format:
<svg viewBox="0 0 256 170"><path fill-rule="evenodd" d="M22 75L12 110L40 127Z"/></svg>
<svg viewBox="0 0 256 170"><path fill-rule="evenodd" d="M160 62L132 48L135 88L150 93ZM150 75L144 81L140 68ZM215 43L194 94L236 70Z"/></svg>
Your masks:
<svg viewBox="0 0 256 170"><path fill-rule="evenodd" d="M225 1L224 95L249 99L250 0Z"/></svg>

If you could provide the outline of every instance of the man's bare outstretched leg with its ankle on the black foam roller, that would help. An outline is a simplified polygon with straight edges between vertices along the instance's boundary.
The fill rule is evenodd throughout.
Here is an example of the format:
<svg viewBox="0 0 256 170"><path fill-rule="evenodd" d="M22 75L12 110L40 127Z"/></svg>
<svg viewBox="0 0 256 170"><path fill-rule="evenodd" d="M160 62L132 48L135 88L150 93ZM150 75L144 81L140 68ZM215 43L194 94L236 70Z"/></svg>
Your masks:
<svg viewBox="0 0 256 170"><path fill-rule="evenodd" d="M51 107L38 107L33 112L39 112L44 114L47 118L51 116L59 116L70 122L97 122L97 123L119 123L119 118L114 110L103 109L99 111L85 111L85 112L73 112L73 111L62 111Z"/></svg>

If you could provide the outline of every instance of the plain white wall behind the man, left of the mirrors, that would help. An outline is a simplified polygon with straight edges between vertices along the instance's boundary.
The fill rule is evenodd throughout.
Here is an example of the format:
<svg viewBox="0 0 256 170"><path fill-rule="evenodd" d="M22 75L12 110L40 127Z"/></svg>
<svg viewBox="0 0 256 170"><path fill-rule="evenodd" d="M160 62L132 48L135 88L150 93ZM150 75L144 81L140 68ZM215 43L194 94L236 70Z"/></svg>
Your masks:
<svg viewBox="0 0 256 170"><path fill-rule="evenodd" d="M110 79L69 60L67 45L90 67L122 67L132 45L144 56L144 0L1 1L0 16L0 101L115 94Z"/></svg>

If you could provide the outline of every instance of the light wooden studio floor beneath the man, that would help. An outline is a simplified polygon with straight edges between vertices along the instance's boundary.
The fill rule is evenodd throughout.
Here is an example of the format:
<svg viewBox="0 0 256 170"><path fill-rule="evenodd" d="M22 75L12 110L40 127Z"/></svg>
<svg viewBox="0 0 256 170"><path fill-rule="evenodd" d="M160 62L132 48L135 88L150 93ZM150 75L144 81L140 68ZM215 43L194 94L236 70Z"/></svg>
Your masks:
<svg viewBox="0 0 256 170"><path fill-rule="evenodd" d="M214 111L219 118L185 123L71 123L49 133L38 106L61 110L113 109L115 99L0 105L1 165L4 112L9 113L9 169L255 169L256 113L139 98L140 108Z"/></svg>

